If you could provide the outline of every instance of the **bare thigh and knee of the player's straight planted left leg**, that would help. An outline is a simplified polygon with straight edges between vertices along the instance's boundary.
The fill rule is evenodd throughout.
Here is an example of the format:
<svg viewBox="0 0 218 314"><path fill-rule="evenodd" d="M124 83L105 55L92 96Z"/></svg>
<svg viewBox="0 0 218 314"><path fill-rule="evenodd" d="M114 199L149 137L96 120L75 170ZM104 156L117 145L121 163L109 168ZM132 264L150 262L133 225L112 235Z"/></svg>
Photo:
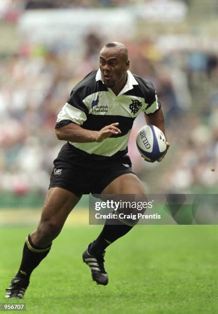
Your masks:
<svg viewBox="0 0 218 314"><path fill-rule="evenodd" d="M63 188L53 187L47 192L41 220L30 235L34 245L45 247L60 233L68 214L80 198Z"/></svg>

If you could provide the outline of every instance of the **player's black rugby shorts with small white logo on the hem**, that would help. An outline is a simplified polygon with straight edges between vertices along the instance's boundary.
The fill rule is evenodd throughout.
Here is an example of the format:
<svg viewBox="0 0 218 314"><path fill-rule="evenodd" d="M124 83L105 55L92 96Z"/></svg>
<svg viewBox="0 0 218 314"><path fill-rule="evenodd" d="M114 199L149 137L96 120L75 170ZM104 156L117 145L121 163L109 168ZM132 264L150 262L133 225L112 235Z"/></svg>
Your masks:
<svg viewBox="0 0 218 314"><path fill-rule="evenodd" d="M59 159L54 160L54 168L51 173L51 187L61 187L78 197L82 194L101 194L102 190L118 176L125 173L133 173L132 163L128 155L122 156L110 167L94 169L72 163L66 163Z"/></svg>

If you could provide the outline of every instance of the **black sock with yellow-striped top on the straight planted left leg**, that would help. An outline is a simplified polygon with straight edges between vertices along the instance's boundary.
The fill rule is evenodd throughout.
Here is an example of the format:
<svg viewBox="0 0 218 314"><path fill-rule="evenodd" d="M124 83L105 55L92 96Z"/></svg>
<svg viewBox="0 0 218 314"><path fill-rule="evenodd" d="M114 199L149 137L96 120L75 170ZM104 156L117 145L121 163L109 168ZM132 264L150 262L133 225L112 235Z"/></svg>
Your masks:
<svg viewBox="0 0 218 314"><path fill-rule="evenodd" d="M21 266L15 277L24 279L28 284L31 272L47 256L50 248L51 244L44 248L35 246L28 235L24 244Z"/></svg>

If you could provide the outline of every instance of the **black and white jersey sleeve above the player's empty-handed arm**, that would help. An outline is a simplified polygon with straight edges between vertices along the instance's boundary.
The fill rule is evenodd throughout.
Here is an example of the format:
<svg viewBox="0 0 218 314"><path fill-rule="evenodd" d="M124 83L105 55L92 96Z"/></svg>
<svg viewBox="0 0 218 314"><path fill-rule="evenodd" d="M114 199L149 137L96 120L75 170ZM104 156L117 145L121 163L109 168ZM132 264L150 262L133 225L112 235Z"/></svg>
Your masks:
<svg viewBox="0 0 218 314"><path fill-rule="evenodd" d="M82 125L87 119L88 109L83 103L79 90L72 90L70 97L58 114L55 128L69 123Z"/></svg>

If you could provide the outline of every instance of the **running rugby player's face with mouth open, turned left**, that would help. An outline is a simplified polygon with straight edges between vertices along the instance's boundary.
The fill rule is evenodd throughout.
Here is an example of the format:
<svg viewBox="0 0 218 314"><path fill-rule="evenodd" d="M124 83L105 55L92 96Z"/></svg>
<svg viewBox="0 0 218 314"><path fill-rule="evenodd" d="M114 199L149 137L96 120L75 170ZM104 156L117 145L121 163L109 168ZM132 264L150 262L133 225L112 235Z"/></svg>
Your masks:
<svg viewBox="0 0 218 314"><path fill-rule="evenodd" d="M104 47L100 52L99 67L106 87L116 88L126 82L126 71L130 67L130 61L122 50L116 47Z"/></svg>

